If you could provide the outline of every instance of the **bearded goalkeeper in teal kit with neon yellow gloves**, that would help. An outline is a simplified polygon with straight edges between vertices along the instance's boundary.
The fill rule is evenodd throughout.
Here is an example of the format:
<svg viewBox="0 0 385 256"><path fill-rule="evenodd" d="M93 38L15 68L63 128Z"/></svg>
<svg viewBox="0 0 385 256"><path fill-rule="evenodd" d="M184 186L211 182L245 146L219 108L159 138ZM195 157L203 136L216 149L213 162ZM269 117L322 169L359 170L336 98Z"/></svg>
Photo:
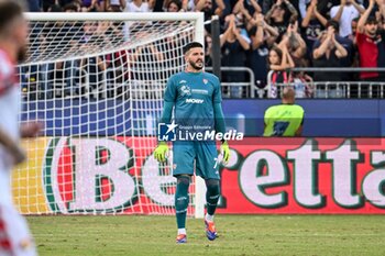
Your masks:
<svg viewBox="0 0 385 256"><path fill-rule="evenodd" d="M174 108L176 125L180 127L211 127L217 133L226 132L226 124L221 107L221 89L218 77L205 73L204 46L193 42L184 47L185 71L173 75L168 81L164 96L164 110L162 123L169 124ZM173 124L174 125L174 122ZM176 125L168 126L168 130ZM198 127L198 130L199 130ZM193 130L191 130L193 131ZM196 130L194 130L196 132ZM230 157L229 145L221 142L223 162ZM188 187L194 175L194 160L196 175L202 177L206 182L207 213L205 215L206 235L212 241L217 238L213 214L220 197L220 176L218 170L218 152L216 142L204 141L174 141L173 175L177 179L175 193L175 210L178 234L177 243L186 243L186 214L188 208ZM168 146L166 142L160 142L155 149L155 158L158 162L166 160Z"/></svg>

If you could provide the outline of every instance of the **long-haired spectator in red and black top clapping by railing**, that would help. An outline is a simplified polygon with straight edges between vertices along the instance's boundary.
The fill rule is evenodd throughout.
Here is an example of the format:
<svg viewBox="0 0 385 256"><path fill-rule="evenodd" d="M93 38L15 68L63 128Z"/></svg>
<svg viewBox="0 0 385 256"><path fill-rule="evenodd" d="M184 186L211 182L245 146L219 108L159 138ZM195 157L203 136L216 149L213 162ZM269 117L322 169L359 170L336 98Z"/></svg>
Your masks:
<svg viewBox="0 0 385 256"><path fill-rule="evenodd" d="M289 74L286 71L288 68L294 68L294 62L288 54L288 49L286 47L288 37L285 37L284 43L282 45L282 49L278 46L273 46L268 53L268 63L270 70L273 70L271 77L268 98L277 98L278 96L278 87L277 84L286 84L290 80Z"/></svg>

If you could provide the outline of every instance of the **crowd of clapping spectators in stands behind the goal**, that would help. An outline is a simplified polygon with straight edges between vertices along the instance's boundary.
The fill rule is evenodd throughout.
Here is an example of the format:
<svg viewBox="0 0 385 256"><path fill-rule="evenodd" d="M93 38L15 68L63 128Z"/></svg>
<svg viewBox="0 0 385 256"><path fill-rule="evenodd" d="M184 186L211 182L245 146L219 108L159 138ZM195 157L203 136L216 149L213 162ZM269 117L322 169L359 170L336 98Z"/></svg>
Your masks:
<svg viewBox="0 0 385 256"><path fill-rule="evenodd" d="M250 67L255 85L308 81L384 82L384 73L290 73L294 67L385 67L385 0L29 0L31 12L191 12L220 16L221 65ZM211 65L206 25L207 66ZM158 53L154 53L155 55ZM95 59L97 68L105 68ZM223 73L239 82L248 74ZM274 98L277 91L270 91ZM242 93L232 93L242 97ZM380 96L380 94L378 94Z"/></svg>

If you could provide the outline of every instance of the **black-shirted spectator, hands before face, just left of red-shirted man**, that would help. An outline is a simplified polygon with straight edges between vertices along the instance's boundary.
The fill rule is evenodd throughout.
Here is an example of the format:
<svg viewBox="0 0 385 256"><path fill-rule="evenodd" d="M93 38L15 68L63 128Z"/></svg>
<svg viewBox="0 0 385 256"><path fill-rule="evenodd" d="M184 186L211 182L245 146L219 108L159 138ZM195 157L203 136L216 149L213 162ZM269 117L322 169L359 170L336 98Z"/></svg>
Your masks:
<svg viewBox="0 0 385 256"><path fill-rule="evenodd" d="M314 53L315 67L342 67L341 59L348 56L348 51L336 40L334 27L329 26L327 33L323 33L320 38L320 45L315 48ZM315 74L315 81L341 81L341 76L338 73L319 71ZM329 97L337 97L337 86L332 85L328 88ZM320 96L318 91L318 96Z"/></svg>

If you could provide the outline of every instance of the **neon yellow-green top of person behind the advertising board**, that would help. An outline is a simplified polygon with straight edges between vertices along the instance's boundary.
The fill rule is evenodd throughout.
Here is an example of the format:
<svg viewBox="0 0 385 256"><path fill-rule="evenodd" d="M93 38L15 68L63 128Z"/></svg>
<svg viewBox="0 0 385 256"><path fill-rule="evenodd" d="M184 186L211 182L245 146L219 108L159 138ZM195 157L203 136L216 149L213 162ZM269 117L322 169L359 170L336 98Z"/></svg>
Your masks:
<svg viewBox="0 0 385 256"><path fill-rule="evenodd" d="M305 111L297 104L270 107L264 116L264 136L295 136L302 125Z"/></svg>

